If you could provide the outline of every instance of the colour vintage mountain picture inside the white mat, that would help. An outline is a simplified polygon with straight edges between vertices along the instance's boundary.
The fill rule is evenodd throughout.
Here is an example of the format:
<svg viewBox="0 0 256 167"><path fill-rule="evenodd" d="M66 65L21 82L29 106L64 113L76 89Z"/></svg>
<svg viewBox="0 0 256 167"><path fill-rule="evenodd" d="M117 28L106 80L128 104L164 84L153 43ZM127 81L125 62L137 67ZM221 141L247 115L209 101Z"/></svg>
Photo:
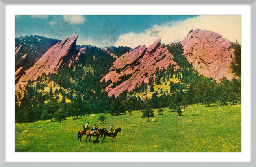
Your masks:
<svg viewBox="0 0 256 167"><path fill-rule="evenodd" d="M15 152L241 152L241 15L15 15Z"/></svg>

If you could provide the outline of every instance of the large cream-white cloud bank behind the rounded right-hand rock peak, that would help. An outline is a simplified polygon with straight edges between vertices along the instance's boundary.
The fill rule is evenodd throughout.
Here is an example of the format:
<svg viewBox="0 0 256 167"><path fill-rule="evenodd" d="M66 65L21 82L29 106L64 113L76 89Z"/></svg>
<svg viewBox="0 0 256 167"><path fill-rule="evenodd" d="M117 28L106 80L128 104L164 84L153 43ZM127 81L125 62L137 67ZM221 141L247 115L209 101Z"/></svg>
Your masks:
<svg viewBox="0 0 256 167"><path fill-rule="evenodd" d="M183 21L167 22L154 25L141 33L126 33L119 36L115 46L135 47L149 46L157 38L161 42L170 43L183 40L191 29L206 29L219 33L232 42L241 44L241 16L240 15L201 15Z"/></svg>

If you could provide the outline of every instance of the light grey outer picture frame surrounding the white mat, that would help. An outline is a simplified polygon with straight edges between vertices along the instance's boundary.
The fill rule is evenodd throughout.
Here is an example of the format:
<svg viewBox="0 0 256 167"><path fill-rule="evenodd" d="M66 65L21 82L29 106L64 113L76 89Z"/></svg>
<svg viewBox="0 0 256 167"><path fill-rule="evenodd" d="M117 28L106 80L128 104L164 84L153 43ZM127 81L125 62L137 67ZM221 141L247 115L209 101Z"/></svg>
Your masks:
<svg viewBox="0 0 256 167"><path fill-rule="evenodd" d="M141 162L141 163L39 163L39 162L33 162L33 163L8 163L5 162L5 94L7 93L6 90L6 82L5 82L5 5L6 4L20 4L20 5L27 5L27 4L134 4L134 5L143 5L143 4L191 4L191 5L200 5L200 4L250 4L252 7L252 153L251 153L251 163L235 163L235 162L229 162L229 163L212 163L212 162L205 162L205 163L147 163L147 162ZM117 166L133 166L133 167L153 167L153 166L163 166L163 167L169 167L169 166L177 166L177 167L198 167L198 166L230 166L230 167L256 167L256 0L205 0L205 1L197 1L197 0L0 0L0 167L11 167L11 166L42 166L42 167L50 167L50 166L56 166L56 167L68 167L68 166L94 166L94 167L117 167ZM160 154L159 154L160 155Z"/></svg>

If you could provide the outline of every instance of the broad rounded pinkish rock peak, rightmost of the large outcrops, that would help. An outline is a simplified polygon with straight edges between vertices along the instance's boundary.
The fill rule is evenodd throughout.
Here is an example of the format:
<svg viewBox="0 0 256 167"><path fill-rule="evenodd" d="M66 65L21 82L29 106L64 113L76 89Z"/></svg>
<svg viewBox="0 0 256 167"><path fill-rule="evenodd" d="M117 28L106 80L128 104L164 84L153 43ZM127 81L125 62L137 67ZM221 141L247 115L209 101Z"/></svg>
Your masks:
<svg viewBox="0 0 256 167"><path fill-rule="evenodd" d="M232 80L235 77L230 68L233 62L234 49L229 40L213 31L202 29L191 30L182 41L184 55L198 73L216 80L224 77Z"/></svg>

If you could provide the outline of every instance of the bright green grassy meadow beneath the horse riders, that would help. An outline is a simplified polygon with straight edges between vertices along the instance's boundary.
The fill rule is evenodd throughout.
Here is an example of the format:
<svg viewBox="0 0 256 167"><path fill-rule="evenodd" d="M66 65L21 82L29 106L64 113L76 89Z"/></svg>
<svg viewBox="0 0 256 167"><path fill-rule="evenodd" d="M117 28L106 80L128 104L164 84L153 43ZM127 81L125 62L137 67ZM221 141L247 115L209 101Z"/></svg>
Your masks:
<svg viewBox="0 0 256 167"><path fill-rule="evenodd" d="M140 111L106 116L98 123L92 117L72 117L59 122L38 121L15 124L15 152L241 152L241 104L228 106L189 105L182 116L164 108L157 122L145 122ZM152 119L152 118L151 118ZM90 122L99 128L121 127L122 133L99 144L77 142L78 131ZM29 131L27 131L29 130ZM95 137L92 140L96 140Z"/></svg>

